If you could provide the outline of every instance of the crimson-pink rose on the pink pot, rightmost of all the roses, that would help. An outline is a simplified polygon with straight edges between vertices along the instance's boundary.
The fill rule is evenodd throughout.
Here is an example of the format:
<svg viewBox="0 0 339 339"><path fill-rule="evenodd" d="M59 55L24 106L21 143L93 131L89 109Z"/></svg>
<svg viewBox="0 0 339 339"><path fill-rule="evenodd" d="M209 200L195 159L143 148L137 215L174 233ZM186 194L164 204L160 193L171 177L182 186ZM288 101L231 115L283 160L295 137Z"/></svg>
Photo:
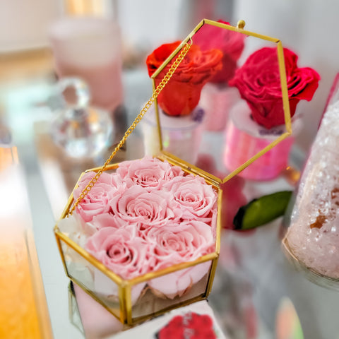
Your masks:
<svg viewBox="0 0 339 339"><path fill-rule="evenodd" d="M297 54L290 49L284 49L284 57L290 113L293 117L299 100L312 99L320 76L309 67L299 69ZM258 124L267 129L285 124L277 49L258 49L237 69L229 83L238 88Z"/></svg>

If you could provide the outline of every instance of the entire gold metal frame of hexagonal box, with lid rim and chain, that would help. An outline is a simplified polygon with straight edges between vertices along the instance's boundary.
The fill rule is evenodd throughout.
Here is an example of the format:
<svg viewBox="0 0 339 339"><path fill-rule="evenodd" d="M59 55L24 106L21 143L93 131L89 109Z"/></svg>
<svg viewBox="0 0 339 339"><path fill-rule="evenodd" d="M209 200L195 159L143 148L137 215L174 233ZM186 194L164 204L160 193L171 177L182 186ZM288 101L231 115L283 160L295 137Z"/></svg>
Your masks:
<svg viewBox="0 0 339 339"><path fill-rule="evenodd" d="M279 61L281 88L282 88L282 94L283 94L283 107L284 107L284 112L285 112L285 125L286 125L287 131L285 133L283 133L283 135L281 135L275 141L273 141L270 145L268 145L266 148L264 148L259 153L254 155L254 157L251 157L251 159L246 161L239 168L235 169L231 174L227 175L227 177L225 177L225 178L215 177L212 174L205 172L202 169L195 167L194 165L189 164L188 162L185 162L184 160L180 159L179 157L176 157L175 155L172 155L170 153L165 152L165 150L162 150L161 126L160 126L160 119L159 119L159 112L158 112L158 108L157 108L157 99L156 98L157 98L157 95L160 93L160 90L163 87L165 87L167 81L169 80L169 77L172 76L172 73L174 73L177 66L173 67L173 65L172 65L172 67L171 67L172 73L170 73L170 71L169 71L170 76L168 76L169 73L167 73L167 76L165 76L165 78L162 80L162 83L160 83L160 85L158 85L157 88L155 88L155 76L157 76L160 73L160 71L162 71L162 69L164 69L165 66L167 66L169 61L172 61L172 59L175 56L177 56L177 54L179 54L179 57L177 57L177 60L174 61L174 64L175 63L178 64L178 60L180 58L183 59L184 55L186 55L186 52L189 49L189 46L190 46L189 42L191 41L191 38L194 36L194 34L203 25L215 25L217 27L225 28L227 30L240 32L240 33L245 34L245 35L250 35L250 36L258 37L258 38L263 39L263 40L268 40L270 42L275 42L277 44L277 50L278 50L278 61ZM63 261L63 264L64 264L64 269L65 269L66 275L69 276L69 278L71 280L73 280L74 283L80 285L83 288L83 290L85 290L85 292L88 292L88 294L91 295L95 300L97 300L97 302L100 302L100 304L102 304L103 307L105 307L114 316L116 316L117 319L119 319L122 323L125 323L125 324L128 324L128 325L133 325L133 324L138 323L140 321L144 321L145 319L149 319L150 316L157 316L159 314L164 313L165 311L169 311L169 309L174 309L174 308L177 308L177 307L180 307L180 306L184 306L186 304L190 304L191 302L196 302L198 300L206 299L208 297L210 290L212 288L213 278L214 278L214 275L215 275L215 270L216 270L216 267L217 267L218 257L219 257L219 253L220 253L220 232L221 232L220 210L221 210L221 199L222 199L222 189L220 189L220 184L227 182L227 180L234 177L234 175L236 175L242 169L244 169L245 167L250 165L251 162L254 162L254 160L256 160L258 157L263 155L263 153L266 153L268 150L270 150L270 148L273 148L274 145L276 145L277 143L282 141L287 136L290 136L290 134L292 133L291 119L290 119L290 106L289 106L289 102L288 102L287 82L286 82L286 75L285 75L285 62L284 62L282 44L281 44L280 40L278 40L278 39L274 39L272 37L266 37L265 35L259 35L259 34L254 33L254 32L249 32L249 31L244 30L243 28L244 28L244 22L242 20L239 21L237 27L233 27L231 25L225 25L225 24L217 23L215 21L207 20L207 19L202 20L201 23L199 23L196 26L196 28L194 28L194 30L179 45L179 47L177 47L177 49L166 59L166 61L162 64L162 66L160 66L160 68L157 69L157 71L155 71L155 73L153 74L153 76L152 76L153 96L148 101L148 103L145 105L145 107L142 109L141 113L138 115L136 120L133 121L133 124L130 127L130 129L126 131L124 138L121 140L121 142L119 143L117 148L114 150L111 157L109 157L109 159L105 162L105 165L103 165L102 167L97 167L95 169L88 169L88 171L97 172L97 174L95 176L96 179L94 181L92 180L88 184L88 187L86 187L86 189L88 188L87 191L85 191L86 189L84 189L84 191L83 191L83 196L85 196L85 194L87 194L88 191L90 190L90 188L95 184L97 177L99 177L101 172L106 171L106 170L117 169L117 167L119 167L119 164L109 165L109 162L112 160L112 157L117 152L117 149L119 149L119 146L121 147L122 143L124 143L126 138L133 131L136 124L138 124L138 122L141 120L141 118L143 117L145 112L148 110L148 108L150 107L152 102L155 102L157 130L158 130L158 134L159 134L160 149L161 149L161 153L160 153L160 155L158 155L158 158L160 160L167 160L172 165L178 165L179 167L181 167L187 173L196 174L196 175L203 177L203 179L205 179L208 184L213 185L213 187L218 191L218 216L217 216L217 230L216 230L216 239L215 239L215 251L211 254L206 255L206 256L201 256L201 258L198 258L196 261L187 262L187 263L179 263L177 265L174 265L174 266L171 266L171 267L168 267L168 268L164 268L162 270L158 270L157 272L146 273L145 275L138 276L138 277L133 278L131 280L124 280L121 277L119 277L119 275L113 273L111 270L106 268L105 265L103 265L100 261L98 261L94 256L91 256L87 251L85 251L85 249L83 249L81 246L76 244L76 242L73 242L71 239L69 239L69 237L67 237L66 234L64 234L63 232L61 232L59 230L58 225L55 225L55 227L54 227L54 234L55 234L55 237L57 239L57 244L59 246L59 251L60 251L61 258L62 258L62 261ZM180 61L181 61L181 59L180 59ZM86 171L86 172L88 172L88 171ZM81 174L81 176L82 175L83 174ZM83 196L82 196L82 198L83 198ZM72 193L70 198L69 198L69 201L66 204L66 207L65 207L65 209L64 209L64 211L61 215L61 219L66 218L69 214L71 214L73 209L75 208L75 205L78 202L79 202L79 199L77 201L73 200L73 193ZM100 270L103 274L107 275L107 277L110 278L112 280L112 282L114 282L118 285L118 288L119 288L119 315L115 314L114 311L112 311L112 309L109 309L109 307L107 307L105 302L103 302L102 299L100 299L99 296L95 295L95 292L88 290L88 288L86 288L85 285L83 285L83 283L81 283L81 281L78 281L76 278L71 276L71 274L67 270L66 260L65 260L65 257L64 257L64 251L62 249L61 242L64 242L64 244L66 244L66 246L69 246L71 249L73 249L73 251L76 251L76 253L79 254L82 258L84 258L85 261L88 261L88 263L90 263L95 268ZM158 311L155 311L152 314L140 316L138 318L136 318L136 317L133 318L132 302L131 302L131 287L133 287L133 285L146 282L150 279L157 278L157 277L160 277L162 275L173 273L177 270L182 270L184 268L196 266L199 263L203 263L203 262L206 262L206 261L211 261L211 266L210 266L210 271L208 273L208 280L207 280L207 283L206 283L206 289L201 295L197 295L196 297L193 297L191 299L188 299L188 300L185 300L185 301L182 301L182 302L178 302L177 304L174 304L170 307L165 307L164 309L160 309Z"/></svg>

